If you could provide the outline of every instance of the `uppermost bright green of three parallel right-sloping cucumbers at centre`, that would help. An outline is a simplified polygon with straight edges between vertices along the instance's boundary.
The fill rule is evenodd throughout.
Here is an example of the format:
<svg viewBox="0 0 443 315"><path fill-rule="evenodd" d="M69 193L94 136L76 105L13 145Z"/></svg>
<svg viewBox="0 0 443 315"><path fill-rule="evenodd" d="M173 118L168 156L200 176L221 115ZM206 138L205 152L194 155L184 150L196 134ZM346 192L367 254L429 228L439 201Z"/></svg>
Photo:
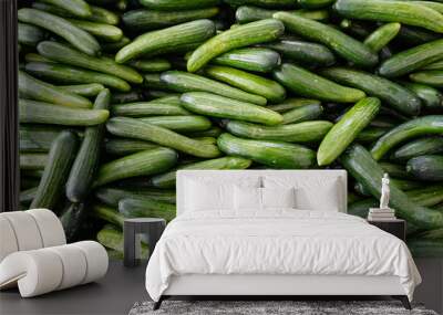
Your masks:
<svg viewBox="0 0 443 315"><path fill-rule="evenodd" d="M243 91L261 95L271 103L282 102L286 98L286 91L279 83L256 74L222 65L207 66L205 73Z"/></svg>

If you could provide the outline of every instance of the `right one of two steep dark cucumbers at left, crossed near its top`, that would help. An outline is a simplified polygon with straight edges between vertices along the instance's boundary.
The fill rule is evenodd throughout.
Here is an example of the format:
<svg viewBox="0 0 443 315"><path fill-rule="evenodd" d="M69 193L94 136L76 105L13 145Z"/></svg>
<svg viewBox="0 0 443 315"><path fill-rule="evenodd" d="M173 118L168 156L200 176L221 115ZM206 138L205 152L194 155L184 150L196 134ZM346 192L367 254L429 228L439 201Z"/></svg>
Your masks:
<svg viewBox="0 0 443 315"><path fill-rule="evenodd" d="M111 101L109 90L102 91L95 98L94 109L107 109ZM72 165L66 182L66 197L72 202L84 201L99 167L101 143L105 126L86 127L82 145Z"/></svg>

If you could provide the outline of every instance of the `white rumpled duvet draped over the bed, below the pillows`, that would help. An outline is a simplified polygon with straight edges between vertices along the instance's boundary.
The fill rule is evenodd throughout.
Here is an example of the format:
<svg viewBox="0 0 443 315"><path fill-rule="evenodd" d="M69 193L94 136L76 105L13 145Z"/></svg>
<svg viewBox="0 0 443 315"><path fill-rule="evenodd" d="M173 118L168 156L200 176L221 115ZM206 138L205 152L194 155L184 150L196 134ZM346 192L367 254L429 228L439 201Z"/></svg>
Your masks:
<svg viewBox="0 0 443 315"><path fill-rule="evenodd" d="M354 216L293 209L177 217L148 262L146 290L158 301L183 274L396 275L410 300L421 282L398 238Z"/></svg>

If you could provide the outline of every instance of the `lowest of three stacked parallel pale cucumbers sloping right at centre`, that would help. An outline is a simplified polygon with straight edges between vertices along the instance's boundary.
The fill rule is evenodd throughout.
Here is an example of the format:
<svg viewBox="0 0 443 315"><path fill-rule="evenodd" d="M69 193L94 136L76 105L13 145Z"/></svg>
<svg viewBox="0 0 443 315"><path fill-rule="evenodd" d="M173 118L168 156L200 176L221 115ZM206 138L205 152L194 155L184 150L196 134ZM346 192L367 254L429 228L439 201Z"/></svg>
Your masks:
<svg viewBox="0 0 443 315"><path fill-rule="evenodd" d="M205 116L231 118L265 125L277 125L282 122L280 114L268 108L210 93L185 93L182 95L181 101L186 109Z"/></svg>

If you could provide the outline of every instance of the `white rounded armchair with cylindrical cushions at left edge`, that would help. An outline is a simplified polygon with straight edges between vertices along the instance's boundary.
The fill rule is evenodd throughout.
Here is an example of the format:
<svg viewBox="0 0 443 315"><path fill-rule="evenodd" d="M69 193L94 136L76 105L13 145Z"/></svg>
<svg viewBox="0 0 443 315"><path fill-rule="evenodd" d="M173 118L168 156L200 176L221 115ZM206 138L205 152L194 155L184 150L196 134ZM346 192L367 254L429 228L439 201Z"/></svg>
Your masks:
<svg viewBox="0 0 443 315"><path fill-rule="evenodd" d="M96 281L107 264L97 242L66 244L50 210L0 213L0 290L18 286L22 297L37 296Z"/></svg>

